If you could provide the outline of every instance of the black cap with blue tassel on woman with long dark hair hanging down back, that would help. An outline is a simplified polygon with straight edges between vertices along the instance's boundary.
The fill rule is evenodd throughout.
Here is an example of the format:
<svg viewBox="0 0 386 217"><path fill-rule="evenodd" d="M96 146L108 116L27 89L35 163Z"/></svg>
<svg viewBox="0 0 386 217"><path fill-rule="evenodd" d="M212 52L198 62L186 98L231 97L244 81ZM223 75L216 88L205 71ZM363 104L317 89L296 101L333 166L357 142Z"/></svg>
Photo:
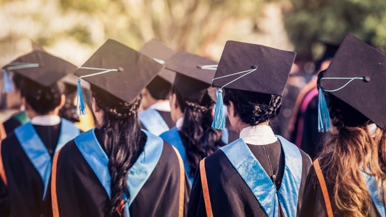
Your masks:
<svg viewBox="0 0 386 217"><path fill-rule="evenodd" d="M130 103L162 68L152 58L109 39L78 68L75 75ZM82 94L78 95L82 97ZM79 104L82 107L82 102ZM84 110L80 110L82 114Z"/></svg>

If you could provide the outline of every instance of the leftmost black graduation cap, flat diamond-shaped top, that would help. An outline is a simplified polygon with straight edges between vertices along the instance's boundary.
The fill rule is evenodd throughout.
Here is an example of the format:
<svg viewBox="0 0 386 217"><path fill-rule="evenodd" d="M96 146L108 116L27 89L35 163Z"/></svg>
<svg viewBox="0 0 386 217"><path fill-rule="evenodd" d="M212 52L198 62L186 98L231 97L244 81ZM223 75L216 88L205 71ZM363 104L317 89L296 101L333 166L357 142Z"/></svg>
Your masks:
<svg viewBox="0 0 386 217"><path fill-rule="evenodd" d="M44 50L34 50L8 63L3 69L48 87L67 74L74 73L77 67Z"/></svg>

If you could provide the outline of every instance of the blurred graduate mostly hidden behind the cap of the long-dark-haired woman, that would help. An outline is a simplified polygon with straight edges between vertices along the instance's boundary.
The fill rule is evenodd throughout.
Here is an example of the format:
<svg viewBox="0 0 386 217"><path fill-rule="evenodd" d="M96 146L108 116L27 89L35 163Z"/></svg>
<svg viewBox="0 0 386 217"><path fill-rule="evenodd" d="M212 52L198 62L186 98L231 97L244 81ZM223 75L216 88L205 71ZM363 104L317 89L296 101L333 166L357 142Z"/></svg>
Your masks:
<svg viewBox="0 0 386 217"><path fill-rule="evenodd" d="M145 43L140 52L163 65L175 53L155 39ZM175 72L164 68L141 92L141 106L144 111L138 114L138 118L142 128L154 135L160 135L174 127L170 115L169 91L175 76Z"/></svg>

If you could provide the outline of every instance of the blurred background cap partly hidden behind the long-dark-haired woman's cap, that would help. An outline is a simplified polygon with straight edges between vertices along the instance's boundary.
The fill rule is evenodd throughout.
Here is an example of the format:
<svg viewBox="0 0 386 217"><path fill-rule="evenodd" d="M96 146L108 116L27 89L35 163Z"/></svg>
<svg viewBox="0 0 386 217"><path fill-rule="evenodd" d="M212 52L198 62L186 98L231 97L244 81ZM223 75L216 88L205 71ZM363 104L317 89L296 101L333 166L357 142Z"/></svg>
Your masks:
<svg viewBox="0 0 386 217"><path fill-rule="evenodd" d="M153 58L162 65L165 65L166 60L176 53L174 50L170 49L164 43L161 43L156 39L152 39L151 41L145 43L140 52ZM175 76L175 72L163 68L158 75L151 80L146 88L153 97L157 96L156 98L166 99Z"/></svg>

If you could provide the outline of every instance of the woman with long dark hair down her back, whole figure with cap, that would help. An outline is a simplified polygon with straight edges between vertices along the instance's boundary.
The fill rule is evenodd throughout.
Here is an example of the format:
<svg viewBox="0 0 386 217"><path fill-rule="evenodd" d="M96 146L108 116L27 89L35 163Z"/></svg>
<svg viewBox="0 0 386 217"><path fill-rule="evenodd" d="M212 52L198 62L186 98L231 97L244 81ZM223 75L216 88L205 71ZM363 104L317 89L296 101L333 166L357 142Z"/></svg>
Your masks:
<svg viewBox="0 0 386 217"><path fill-rule="evenodd" d="M178 151L141 130L141 90L163 68L107 40L75 74L91 84L97 128L71 140L52 169L54 217L183 217L189 183ZM84 100L79 89L79 112Z"/></svg>

